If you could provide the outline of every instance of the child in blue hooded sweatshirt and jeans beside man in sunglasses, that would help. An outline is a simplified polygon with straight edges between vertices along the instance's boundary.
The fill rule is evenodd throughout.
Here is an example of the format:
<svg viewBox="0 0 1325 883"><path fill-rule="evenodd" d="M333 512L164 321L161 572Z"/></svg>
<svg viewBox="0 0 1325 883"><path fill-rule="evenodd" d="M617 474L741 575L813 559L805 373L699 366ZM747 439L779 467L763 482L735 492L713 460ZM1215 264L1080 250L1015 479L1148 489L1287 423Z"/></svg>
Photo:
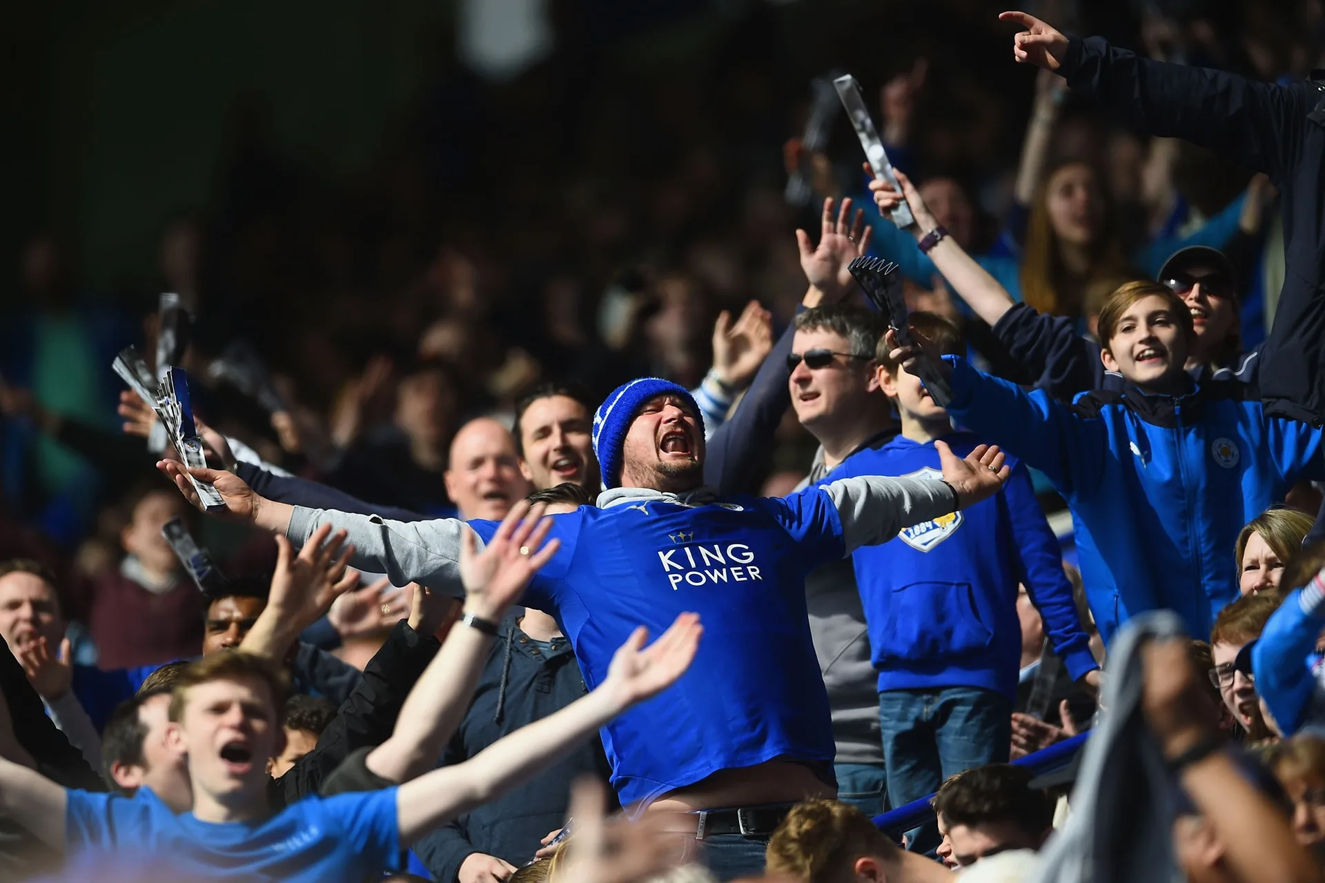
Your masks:
<svg viewBox="0 0 1325 883"><path fill-rule="evenodd" d="M965 349L946 319L917 312L910 324L945 352ZM888 359L886 343L876 371L901 416L901 434L852 454L827 481L880 474L938 479L934 440L961 455L980 443L953 429L920 379ZM1008 466L1011 477L995 496L852 553L878 671L893 806L933 793L965 769L1007 763L1022 655L1018 584L1044 617L1072 678L1088 679L1098 669L1031 475L1011 458Z"/></svg>

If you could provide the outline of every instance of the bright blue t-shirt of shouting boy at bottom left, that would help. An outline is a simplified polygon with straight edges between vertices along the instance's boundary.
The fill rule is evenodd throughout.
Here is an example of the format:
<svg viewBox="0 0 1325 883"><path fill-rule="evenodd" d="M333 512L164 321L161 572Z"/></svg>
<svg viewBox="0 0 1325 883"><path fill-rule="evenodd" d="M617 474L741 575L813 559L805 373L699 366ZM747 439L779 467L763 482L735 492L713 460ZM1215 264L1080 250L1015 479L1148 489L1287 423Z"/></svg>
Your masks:
<svg viewBox="0 0 1325 883"><path fill-rule="evenodd" d="M147 788L66 793L65 849L70 871L95 871L85 879L359 883L400 860L395 788L306 797L256 823L176 815Z"/></svg>

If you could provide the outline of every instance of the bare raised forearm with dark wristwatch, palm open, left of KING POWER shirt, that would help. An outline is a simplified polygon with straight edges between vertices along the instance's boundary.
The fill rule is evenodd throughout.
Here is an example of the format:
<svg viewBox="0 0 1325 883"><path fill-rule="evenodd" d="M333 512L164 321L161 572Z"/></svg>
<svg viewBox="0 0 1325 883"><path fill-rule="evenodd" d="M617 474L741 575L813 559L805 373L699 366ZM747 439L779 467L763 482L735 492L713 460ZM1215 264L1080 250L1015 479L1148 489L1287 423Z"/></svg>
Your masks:
<svg viewBox="0 0 1325 883"><path fill-rule="evenodd" d="M450 630L441 653L409 691L391 739L368 753L366 763L375 776L405 782L437 764L473 700L496 625L560 547L555 539L545 544L553 520L543 518L543 508L517 503L482 552L474 532L465 530L460 545L465 625Z"/></svg>

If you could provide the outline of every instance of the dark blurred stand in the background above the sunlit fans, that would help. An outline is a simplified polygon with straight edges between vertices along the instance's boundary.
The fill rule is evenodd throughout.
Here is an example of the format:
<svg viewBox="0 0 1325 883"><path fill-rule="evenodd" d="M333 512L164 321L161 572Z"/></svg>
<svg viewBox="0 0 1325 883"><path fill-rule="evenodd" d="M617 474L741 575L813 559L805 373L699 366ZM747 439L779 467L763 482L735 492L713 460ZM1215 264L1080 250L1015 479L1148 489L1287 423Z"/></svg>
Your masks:
<svg viewBox="0 0 1325 883"><path fill-rule="evenodd" d="M784 203L783 143L803 130L811 77L849 70L880 113L880 89L928 58L912 171L958 180L992 238L1035 95L1002 8L13 4L0 52L0 369L40 404L115 429L110 357L135 342L151 351L156 298L178 291L197 319L192 365L246 340L339 441L351 418L350 438L390 421L394 379L429 360L452 371L453 401L437 405L448 430L509 409L541 377L596 392L641 372L694 384L719 308L757 298L786 322L804 291L792 230L818 208ZM1264 79L1305 74L1320 46L1316 0L1028 9ZM1114 199L1143 187L1147 146L1092 110L1069 101L1055 138L1057 154L1106 169ZM828 155L860 189L841 115ZM1170 171L1166 184L1206 213L1247 181L1195 151ZM282 454L265 416L224 413L301 466L306 451ZM83 474L48 441L5 440L4 495L25 516Z"/></svg>

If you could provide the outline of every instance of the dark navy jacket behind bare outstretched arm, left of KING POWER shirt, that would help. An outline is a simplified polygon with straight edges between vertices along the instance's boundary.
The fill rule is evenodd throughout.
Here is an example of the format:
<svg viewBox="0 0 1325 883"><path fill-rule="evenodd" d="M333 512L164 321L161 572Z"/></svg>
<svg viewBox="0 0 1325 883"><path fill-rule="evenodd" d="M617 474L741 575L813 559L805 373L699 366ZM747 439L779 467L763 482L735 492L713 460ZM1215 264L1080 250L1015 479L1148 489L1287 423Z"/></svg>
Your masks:
<svg viewBox="0 0 1325 883"><path fill-rule="evenodd" d="M586 694L570 641L558 638L551 655L515 625L501 624L474 700L441 757L441 765L469 760L502 736L564 708ZM440 883L453 883L474 853L519 867L534 857L547 831L566 821L571 782L580 776L607 781L607 757L598 736L541 774L415 843L415 853Z"/></svg>

